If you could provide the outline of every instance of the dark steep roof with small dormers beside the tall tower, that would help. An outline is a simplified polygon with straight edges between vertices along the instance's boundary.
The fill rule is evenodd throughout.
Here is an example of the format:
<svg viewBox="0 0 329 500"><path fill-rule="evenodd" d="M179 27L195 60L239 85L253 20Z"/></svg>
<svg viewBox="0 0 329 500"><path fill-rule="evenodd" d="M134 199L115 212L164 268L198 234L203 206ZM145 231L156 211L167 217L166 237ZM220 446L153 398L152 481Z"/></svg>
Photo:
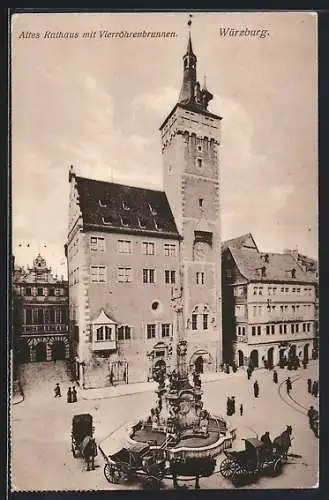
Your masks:
<svg viewBox="0 0 329 500"><path fill-rule="evenodd" d="M76 177L85 228L179 238L164 191Z"/></svg>

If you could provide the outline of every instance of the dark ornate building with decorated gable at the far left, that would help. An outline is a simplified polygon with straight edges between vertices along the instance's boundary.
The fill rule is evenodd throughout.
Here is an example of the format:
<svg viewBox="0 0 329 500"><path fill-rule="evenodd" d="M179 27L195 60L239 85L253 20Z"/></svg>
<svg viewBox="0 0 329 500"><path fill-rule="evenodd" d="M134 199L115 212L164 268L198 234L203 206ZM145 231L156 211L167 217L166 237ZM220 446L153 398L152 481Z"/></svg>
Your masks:
<svg viewBox="0 0 329 500"><path fill-rule="evenodd" d="M69 359L68 284L39 254L13 271L13 336L18 363Z"/></svg>

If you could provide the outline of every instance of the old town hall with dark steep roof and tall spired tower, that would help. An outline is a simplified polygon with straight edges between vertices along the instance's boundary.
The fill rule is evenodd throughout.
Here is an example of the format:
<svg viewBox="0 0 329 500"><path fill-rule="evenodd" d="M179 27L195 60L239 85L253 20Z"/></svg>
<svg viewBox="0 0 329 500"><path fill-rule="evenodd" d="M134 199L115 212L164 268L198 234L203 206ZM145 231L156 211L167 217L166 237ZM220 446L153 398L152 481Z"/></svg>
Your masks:
<svg viewBox="0 0 329 500"><path fill-rule="evenodd" d="M178 103L163 122L164 191L70 170L66 245L76 376L84 387L152 378L171 367L183 289L189 367L221 363L221 118L196 80L189 37Z"/></svg>

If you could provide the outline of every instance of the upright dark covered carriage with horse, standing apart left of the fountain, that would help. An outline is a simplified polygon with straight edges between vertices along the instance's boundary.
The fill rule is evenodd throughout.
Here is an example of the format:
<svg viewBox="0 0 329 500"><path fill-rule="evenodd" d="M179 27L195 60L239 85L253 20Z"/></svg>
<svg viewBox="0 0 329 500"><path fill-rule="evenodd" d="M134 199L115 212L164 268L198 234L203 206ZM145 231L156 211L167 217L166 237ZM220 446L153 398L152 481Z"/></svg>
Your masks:
<svg viewBox="0 0 329 500"><path fill-rule="evenodd" d="M74 458L82 457L87 470L95 468L94 459L97 455L97 446L93 437L93 417L89 413L74 415L72 419L71 449Z"/></svg>

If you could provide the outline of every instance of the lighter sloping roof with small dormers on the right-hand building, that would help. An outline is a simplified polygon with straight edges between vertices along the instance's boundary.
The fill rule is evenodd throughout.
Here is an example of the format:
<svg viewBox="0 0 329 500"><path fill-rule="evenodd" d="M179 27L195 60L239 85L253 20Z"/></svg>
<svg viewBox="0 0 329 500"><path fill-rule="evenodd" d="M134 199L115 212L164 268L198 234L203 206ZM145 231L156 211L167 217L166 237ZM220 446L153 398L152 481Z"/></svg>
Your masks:
<svg viewBox="0 0 329 500"><path fill-rule="evenodd" d="M287 253L259 252L250 233L228 240L223 250L229 249L240 273L249 281L311 283L313 279ZM264 273L262 274L262 268ZM292 270L295 270L295 277Z"/></svg>

